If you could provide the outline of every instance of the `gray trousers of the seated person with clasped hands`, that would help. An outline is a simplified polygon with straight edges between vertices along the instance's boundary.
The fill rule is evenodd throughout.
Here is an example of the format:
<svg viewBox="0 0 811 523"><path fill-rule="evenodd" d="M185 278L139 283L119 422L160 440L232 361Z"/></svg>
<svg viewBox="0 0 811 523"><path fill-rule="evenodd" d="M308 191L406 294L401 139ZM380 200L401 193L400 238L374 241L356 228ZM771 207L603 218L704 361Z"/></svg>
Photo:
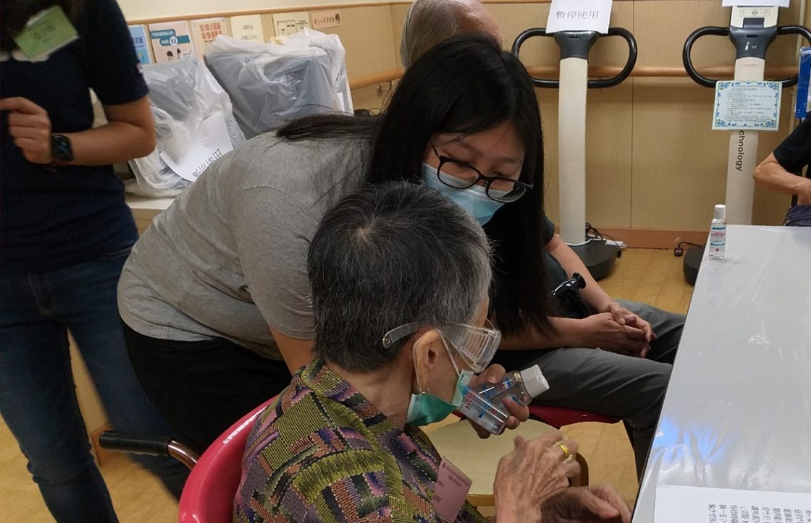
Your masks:
<svg viewBox="0 0 811 523"><path fill-rule="evenodd" d="M539 365L549 390L535 403L587 410L622 419L642 477L664 393L684 327L684 315L633 301L617 303L648 321L657 338L647 357L587 348L497 351L493 363L507 370Z"/></svg>

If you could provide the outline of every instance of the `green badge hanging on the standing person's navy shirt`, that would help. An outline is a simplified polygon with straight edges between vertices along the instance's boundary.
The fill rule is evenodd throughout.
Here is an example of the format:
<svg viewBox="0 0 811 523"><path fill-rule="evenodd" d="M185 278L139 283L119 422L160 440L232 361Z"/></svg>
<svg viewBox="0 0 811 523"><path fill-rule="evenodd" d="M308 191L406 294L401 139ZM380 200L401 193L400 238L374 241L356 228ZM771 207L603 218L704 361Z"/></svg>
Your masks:
<svg viewBox="0 0 811 523"><path fill-rule="evenodd" d="M33 15L14 41L28 60L36 62L77 38L79 35L62 7L51 6Z"/></svg>

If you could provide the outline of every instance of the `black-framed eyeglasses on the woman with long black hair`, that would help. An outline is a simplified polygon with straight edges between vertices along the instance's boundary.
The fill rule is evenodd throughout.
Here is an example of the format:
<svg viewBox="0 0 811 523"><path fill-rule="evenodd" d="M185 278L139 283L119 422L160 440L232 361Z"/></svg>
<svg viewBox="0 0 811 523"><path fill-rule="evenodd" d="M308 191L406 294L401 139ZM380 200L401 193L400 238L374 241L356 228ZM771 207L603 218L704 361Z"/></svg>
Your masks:
<svg viewBox="0 0 811 523"><path fill-rule="evenodd" d="M469 162L440 155L440 151L436 150L433 143L431 143L431 149L434 150L436 157L440 159L440 164L436 167L436 177L444 185L453 187L453 189L468 189L480 181L484 181L484 191L487 193L487 198L496 202L509 203L515 202L533 188L532 184L513 180L513 178L507 176L484 176L481 171L474 168Z"/></svg>

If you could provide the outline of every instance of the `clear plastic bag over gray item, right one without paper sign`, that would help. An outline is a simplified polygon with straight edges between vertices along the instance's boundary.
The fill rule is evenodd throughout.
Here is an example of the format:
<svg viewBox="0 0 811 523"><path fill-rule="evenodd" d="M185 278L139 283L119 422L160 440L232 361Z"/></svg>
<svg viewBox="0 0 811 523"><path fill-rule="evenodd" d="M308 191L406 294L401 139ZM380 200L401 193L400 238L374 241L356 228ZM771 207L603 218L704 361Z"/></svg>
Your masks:
<svg viewBox="0 0 811 523"><path fill-rule="evenodd" d="M315 31L288 36L285 45L221 35L205 50L206 65L249 139L297 117L350 113L344 56L337 36Z"/></svg>

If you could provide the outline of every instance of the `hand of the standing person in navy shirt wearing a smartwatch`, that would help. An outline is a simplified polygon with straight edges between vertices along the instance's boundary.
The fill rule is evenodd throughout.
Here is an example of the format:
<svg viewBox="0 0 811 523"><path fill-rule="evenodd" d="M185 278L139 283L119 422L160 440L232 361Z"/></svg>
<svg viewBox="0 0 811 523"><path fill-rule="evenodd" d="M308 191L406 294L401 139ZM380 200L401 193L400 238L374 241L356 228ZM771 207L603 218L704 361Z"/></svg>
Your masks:
<svg viewBox="0 0 811 523"><path fill-rule="evenodd" d="M8 134L25 159L32 164L50 164L51 125L48 112L22 97L0 99L0 111L8 111Z"/></svg>

